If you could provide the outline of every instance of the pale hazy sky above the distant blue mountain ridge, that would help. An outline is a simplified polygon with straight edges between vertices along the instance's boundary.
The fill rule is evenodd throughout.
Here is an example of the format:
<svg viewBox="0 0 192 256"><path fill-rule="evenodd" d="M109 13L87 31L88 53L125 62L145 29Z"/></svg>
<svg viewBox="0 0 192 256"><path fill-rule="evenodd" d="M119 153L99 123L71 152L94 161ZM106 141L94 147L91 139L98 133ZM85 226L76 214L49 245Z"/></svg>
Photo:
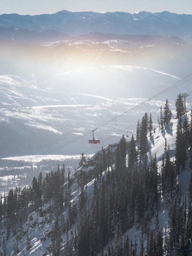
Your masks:
<svg viewBox="0 0 192 256"><path fill-rule="evenodd" d="M36 15L70 12L176 12L192 14L191 0L0 0L0 14L18 13Z"/></svg>

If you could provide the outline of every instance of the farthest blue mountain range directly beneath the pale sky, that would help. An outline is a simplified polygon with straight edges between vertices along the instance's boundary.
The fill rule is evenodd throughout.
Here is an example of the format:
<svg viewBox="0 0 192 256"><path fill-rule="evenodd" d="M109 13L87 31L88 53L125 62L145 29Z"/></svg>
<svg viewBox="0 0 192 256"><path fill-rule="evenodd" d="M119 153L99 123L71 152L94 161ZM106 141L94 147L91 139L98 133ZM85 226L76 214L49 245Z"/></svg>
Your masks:
<svg viewBox="0 0 192 256"><path fill-rule="evenodd" d="M0 15L0 39L26 34L47 36L47 32L60 38L66 34L80 36L91 32L128 35L161 35L179 36L190 39L192 36L192 15L170 12L68 12L61 11L54 14L41 15ZM19 29L19 31L17 31ZM20 31L22 30L22 32ZM53 33L53 30L55 31ZM57 31L57 32L56 32Z"/></svg>

